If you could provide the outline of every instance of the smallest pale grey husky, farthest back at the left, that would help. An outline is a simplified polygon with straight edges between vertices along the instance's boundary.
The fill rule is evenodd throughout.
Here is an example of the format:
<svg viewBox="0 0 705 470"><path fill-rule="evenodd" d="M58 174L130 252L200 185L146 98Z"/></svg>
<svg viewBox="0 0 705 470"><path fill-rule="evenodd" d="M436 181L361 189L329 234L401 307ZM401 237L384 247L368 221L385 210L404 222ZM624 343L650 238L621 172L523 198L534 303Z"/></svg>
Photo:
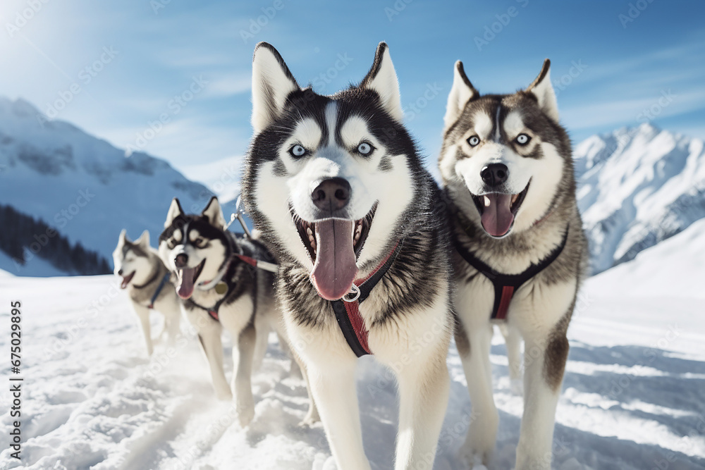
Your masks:
<svg viewBox="0 0 705 470"><path fill-rule="evenodd" d="M164 330L161 333L166 333L170 344L176 341L180 331L181 309L169 280L169 271L159 259L157 250L149 246L147 230L135 242L130 242L123 230L113 252L113 261L115 274L123 278L120 287L128 289L135 312L140 317L147 354L151 356L154 345L149 328L149 310L155 309L164 314Z"/></svg>

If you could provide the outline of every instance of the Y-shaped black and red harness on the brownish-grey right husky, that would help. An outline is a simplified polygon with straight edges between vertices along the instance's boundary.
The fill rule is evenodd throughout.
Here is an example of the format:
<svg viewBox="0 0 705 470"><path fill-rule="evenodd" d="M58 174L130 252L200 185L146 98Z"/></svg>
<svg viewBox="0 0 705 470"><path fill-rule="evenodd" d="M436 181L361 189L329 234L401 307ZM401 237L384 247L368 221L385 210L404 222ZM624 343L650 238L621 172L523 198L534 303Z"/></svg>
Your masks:
<svg viewBox="0 0 705 470"><path fill-rule="evenodd" d="M526 271L519 274L503 274L498 273L490 266L487 266L482 260L478 259L477 256L472 254L470 250L462 247L458 239L453 240L455 249L458 254L462 256L462 259L467 261L473 268L477 269L479 273L488 278L492 285L494 285L494 306L492 307L492 320L502 320L507 319L507 311L509 309L509 304L514 297L515 292L527 282L527 280L533 278L538 273L546 269L556 258L563 252L565 248L565 243L568 242L568 231L570 226L565 228L565 234L563 235L563 240L560 244L551 250L551 253L542 259L539 264L531 264Z"/></svg>

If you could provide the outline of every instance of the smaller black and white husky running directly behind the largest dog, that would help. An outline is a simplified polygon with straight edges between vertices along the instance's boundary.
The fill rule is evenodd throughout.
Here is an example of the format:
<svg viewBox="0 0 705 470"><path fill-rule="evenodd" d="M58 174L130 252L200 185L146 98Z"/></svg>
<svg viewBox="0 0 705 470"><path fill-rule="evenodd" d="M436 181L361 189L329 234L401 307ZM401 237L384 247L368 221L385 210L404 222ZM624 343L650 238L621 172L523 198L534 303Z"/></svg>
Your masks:
<svg viewBox="0 0 705 470"><path fill-rule="evenodd" d="M176 292L197 331L221 400L232 400L246 426L255 415L251 376L266 352L269 331L276 330L288 350L281 310L274 299L274 273L255 268L271 259L262 243L226 230L223 211L213 197L202 214L185 214L173 199L159 236L159 256L176 274ZM223 371L221 331L233 340L232 391ZM284 343L284 344L281 344ZM316 421L312 406L308 421Z"/></svg>

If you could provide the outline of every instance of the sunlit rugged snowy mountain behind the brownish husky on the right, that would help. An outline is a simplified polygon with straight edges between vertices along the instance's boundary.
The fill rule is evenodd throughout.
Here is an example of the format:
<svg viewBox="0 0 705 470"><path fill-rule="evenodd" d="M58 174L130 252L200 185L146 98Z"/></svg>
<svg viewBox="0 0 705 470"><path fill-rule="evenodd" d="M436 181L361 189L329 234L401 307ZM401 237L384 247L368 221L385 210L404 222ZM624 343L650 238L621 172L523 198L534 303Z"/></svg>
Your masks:
<svg viewBox="0 0 705 470"><path fill-rule="evenodd" d="M705 217L702 140L644 123L589 137L574 153L593 273Z"/></svg>

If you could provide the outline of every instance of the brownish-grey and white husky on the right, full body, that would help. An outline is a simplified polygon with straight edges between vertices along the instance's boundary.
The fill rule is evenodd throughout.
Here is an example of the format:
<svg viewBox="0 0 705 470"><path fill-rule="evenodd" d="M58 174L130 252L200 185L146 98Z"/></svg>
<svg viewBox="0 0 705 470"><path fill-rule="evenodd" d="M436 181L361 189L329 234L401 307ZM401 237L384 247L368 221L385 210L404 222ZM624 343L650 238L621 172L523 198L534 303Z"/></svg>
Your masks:
<svg viewBox="0 0 705 470"><path fill-rule="evenodd" d="M494 450L489 349L491 323L501 323L515 386L525 340L517 469L551 466L565 334L587 254L549 66L527 89L480 95L455 63L439 159L456 247L455 341L477 416L463 450L474 462Z"/></svg>

